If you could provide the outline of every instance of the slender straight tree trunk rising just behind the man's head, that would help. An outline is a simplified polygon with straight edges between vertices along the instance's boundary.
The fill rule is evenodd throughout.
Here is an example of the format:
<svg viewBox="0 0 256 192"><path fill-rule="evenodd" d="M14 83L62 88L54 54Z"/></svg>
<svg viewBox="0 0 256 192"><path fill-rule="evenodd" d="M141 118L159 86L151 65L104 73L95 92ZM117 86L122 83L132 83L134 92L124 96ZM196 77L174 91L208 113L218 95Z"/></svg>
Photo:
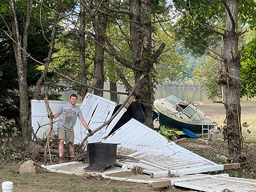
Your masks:
<svg viewBox="0 0 256 192"><path fill-rule="evenodd" d="M80 77L81 82L86 84L87 83L87 76L86 76L86 62L84 59L84 50L86 49L85 45L85 27L86 27L86 11L84 9L84 0L80 1L80 34L79 34L79 63L80 63ZM81 86L81 97L82 100L87 94L87 87Z"/></svg>

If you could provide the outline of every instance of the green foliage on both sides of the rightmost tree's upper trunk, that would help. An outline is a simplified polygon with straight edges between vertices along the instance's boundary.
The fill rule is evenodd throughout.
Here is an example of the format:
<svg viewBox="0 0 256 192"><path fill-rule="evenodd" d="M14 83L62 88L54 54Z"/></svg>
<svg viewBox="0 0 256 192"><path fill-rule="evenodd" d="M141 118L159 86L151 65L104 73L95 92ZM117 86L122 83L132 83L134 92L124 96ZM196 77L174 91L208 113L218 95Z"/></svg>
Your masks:
<svg viewBox="0 0 256 192"><path fill-rule="evenodd" d="M189 2L174 0L174 3L177 11L184 11L190 17L182 15L177 19L175 25L176 37L181 40L186 51L191 52L193 55L212 54L207 48L214 49L221 35L209 29L220 33L224 32L220 30L221 28L225 29L225 6L223 2L221 0L195 0ZM255 6L256 2L254 0L239 2L239 32L245 30L245 28L250 28L251 30L255 28Z"/></svg>

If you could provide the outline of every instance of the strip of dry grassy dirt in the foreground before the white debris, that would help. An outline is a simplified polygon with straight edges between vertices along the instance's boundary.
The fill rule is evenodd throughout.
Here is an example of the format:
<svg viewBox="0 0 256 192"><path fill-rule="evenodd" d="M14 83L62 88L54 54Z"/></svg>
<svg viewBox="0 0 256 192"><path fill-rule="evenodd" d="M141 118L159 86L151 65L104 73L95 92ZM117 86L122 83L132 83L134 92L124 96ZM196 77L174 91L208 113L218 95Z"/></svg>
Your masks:
<svg viewBox="0 0 256 192"><path fill-rule="evenodd" d="M176 187L153 188L144 183L116 181L98 176L82 177L55 173L18 174L20 165L21 163L11 163L2 165L0 168L1 182L12 181L13 191L193 191Z"/></svg>

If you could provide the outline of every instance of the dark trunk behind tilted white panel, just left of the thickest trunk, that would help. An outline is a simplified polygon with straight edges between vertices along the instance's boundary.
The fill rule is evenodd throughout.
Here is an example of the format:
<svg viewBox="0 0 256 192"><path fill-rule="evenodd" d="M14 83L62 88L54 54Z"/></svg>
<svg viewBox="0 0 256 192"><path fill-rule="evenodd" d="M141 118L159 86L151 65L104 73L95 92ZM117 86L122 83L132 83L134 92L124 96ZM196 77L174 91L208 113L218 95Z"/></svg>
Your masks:
<svg viewBox="0 0 256 192"><path fill-rule="evenodd" d="M96 88L103 89L104 87L104 50L103 46L105 45L105 31L106 24L108 22L108 15L103 13L106 12L105 7L109 6L109 0L103 0L98 2L101 4L98 12L97 24L95 25L95 58L94 58L94 77L98 79L96 83ZM94 94L103 97L103 91L94 90Z"/></svg>

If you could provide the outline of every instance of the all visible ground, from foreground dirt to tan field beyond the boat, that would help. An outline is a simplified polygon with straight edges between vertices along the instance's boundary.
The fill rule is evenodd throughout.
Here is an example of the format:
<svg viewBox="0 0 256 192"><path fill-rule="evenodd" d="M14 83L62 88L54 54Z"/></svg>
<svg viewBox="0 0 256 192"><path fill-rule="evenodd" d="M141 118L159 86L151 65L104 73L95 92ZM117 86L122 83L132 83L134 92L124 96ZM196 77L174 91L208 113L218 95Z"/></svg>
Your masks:
<svg viewBox="0 0 256 192"><path fill-rule="evenodd" d="M218 105L218 106L217 106ZM214 119L218 125L225 120L224 105L219 103L205 103L198 108L204 111L210 118ZM242 104L242 122L253 122L256 117L256 102ZM250 116L250 117L249 117ZM228 173L232 177L256 179L256 146L255 146L255 123L251 123L252 129L249 134L244 131L244 137L252 138L244 142L244 147L247 148L247 158L241 163L241 168L229 169L219 171L211 174ZM247 128L245 129L247 130ZM246 135L247 134L247 135ZM253 139L254 138L254 139ZM252 140L252 141L251 141ZM25 151L24 143L21 141L10 142L4 138L0 139L0 181L12 181L14 183L13 191L27 192L27 191L194 191L191 189L181 187L163 187L153 188L152 186L144 183L131 183L125 181L115 181L103 179L101 177L89 176L75 176L64 175L56 173L38 173L38 174L19 174L19 167L22 162L32 159ZM230 163L228 158L227 142L216 139L192 139L187 138L187 142L180 144L182 147L190 150L210 161L218 164ZM57 162L58 158L53 156L52 161ZM36 161L38 164L41 162ZM132 174L132 173L131 173Z"/></svg>

